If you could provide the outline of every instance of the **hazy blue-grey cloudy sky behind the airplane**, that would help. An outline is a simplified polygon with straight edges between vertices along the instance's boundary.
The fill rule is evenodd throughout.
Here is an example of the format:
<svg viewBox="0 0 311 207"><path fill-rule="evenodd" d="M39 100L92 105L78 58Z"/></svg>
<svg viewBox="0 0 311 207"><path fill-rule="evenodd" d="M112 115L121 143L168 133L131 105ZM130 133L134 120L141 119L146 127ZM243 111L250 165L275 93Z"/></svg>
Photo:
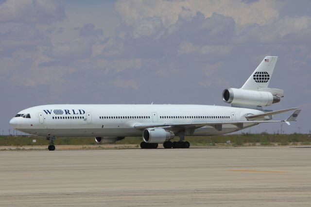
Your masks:
<svg viewBox="0 0 311 207"><path fill-rule="evenodd" d="M283 130L309 133L310 8L310 0L0 0L0 133L43 104L229 106L223 90L240 88L268 55L278 56L269 87L284 98L264 109L301 107Z"/></svg>

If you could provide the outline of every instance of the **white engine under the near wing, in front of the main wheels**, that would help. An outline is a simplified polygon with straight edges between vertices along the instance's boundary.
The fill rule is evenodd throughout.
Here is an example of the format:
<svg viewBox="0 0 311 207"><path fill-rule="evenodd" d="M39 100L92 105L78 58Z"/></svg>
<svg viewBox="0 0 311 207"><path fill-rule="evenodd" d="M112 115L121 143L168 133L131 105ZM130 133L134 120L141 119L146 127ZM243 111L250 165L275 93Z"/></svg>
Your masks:
<svg viewBox="0 0 311 207"><path fill-rule="evenodd" d="M165 131L162 128L147 128L142 132L142 138L147 143L163 143L174 136L173 132Z"/></svg>

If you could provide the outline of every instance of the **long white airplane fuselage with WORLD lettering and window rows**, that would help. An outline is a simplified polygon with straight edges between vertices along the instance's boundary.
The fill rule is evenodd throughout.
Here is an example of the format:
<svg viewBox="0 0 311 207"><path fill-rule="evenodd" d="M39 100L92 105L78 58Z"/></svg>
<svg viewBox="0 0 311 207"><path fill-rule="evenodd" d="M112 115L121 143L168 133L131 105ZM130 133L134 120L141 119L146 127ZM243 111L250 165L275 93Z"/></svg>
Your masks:
<svg viewBox="0 0 311 207"><path fill-rule="evenodd" d="M186 104L54 104L20 111L10 124L19 131L55 137L141 136L137 124L246 121L245 116L263 113L249 108ZM25 115L29 114L30 118ZM225 125L195 129L186 135L220 135L256 125Z"/></svg>

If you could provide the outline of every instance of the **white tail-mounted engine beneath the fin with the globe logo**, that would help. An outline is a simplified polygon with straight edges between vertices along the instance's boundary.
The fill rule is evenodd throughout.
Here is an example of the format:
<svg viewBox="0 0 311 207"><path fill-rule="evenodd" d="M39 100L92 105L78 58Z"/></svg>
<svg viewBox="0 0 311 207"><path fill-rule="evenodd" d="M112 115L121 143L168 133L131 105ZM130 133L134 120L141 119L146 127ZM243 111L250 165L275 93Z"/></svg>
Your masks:
<svg viewBox="0 0 311 207"><path fill-rule="evenodd" d="M228 88L223 91L225 103L233 105L268 106L280 102L280 98L270 92Z"/></svg>

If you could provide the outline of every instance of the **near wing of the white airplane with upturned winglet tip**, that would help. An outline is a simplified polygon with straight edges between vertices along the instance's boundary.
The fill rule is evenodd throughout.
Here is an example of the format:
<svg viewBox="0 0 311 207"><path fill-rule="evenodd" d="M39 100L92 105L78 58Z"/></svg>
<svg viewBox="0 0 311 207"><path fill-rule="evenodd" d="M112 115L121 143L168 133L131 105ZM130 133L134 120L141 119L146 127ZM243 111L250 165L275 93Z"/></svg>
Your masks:
<svg viewBox="0 0 311 207"><path fill-rule="evenodd" d="M290 121L296 121L296 118L298 117L301 109L296 109L294 113L287 119L287 120L281 120L281 121L215 121L215 122L190 122L190 123L139 123L136 124L134 127L136 129L146 129L146 128L153 128L153 127L161 127L161 128L183 128L183 129L197 129L203 126L213 126L216 130L221 131L222 126L224 124L233 124L236 125L239 128L243 128L244 123L253 123L253 124L259 124L259 123L273 123L273 122L286 122L287 124L290 124Z"/></svg>

